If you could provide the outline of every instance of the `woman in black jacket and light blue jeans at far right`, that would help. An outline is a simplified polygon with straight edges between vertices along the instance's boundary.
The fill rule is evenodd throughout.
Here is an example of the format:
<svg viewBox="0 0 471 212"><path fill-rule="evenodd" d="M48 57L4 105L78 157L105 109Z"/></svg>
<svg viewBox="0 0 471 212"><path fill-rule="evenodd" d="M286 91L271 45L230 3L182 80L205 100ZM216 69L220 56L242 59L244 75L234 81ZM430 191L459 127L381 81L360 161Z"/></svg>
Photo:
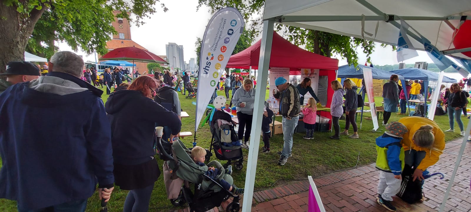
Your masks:
<svg viewBox="0 0 471 212"><path fill-rule="evenodd" d="M455 122L453 121L453 118L455 118L455 121L460 127L461 136L464 136L464 127L463 122L461 121L461 111L467 103L468 100L466 99L466 95L464 94L464 92L461 90L460 85L458 83L451 84L450 94L448 95L447 104L445 105L448 110L448 120L450 122L450 129L445 130L445 132L455 131Z"/></svg>

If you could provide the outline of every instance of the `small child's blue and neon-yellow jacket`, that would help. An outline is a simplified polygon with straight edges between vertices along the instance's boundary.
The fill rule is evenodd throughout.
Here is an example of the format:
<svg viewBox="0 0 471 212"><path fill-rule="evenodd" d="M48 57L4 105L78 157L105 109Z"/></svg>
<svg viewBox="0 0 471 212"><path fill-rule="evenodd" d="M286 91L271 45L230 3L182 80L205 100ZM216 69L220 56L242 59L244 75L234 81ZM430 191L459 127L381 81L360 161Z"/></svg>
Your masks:
<svg viewBox="0 0 471 212"><path fill-rule="evenodd" d="M382 171L400 175L404 169L404 148L402 137L393 136L387 132L376 138L376 168Z"/></svg>

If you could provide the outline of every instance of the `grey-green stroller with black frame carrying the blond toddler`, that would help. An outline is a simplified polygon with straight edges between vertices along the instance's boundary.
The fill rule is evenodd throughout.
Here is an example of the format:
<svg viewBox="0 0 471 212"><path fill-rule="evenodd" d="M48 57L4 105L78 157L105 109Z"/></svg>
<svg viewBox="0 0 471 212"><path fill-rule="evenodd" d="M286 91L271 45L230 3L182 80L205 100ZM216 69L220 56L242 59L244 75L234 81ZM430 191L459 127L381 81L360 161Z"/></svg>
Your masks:
<svg viewBox="0 0 471 212"><path fill-rule="evenodd" d="M196 164L191 157L191 151L179 139L170 144L157 138L157 148L161 159L166 161L163 166L164 181L169 198L170 196L176 197L171 199L173 205L183 206L188 203L190 212L205 212L219 207L222 202L233 197L232 203L227 205L226 210L230 212L240 210L239 196L224 189L221 185L222 180L229 185L232 185L234 180L218 161L211 161L207 166ZM218 169L213 177L206 175L208 166ZM183 180L183 187L181 187L181 180L178 179ZM172 182L179 183L180 189L176 191L168 189L171 188L171 185L168 184ZM190 189L190 183L195 184L194 193Z"/></svg>

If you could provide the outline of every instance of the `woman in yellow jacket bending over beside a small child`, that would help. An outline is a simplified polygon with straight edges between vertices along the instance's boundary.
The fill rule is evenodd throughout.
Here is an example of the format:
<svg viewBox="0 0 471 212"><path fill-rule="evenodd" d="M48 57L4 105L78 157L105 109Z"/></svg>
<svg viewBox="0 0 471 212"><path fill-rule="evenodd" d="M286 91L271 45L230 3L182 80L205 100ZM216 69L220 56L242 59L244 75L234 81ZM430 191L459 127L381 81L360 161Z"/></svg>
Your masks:
<svg viewBox="0 0 471 212"><path fill-rule="evenodd" d="M404 162L415 168L413 180L423 180L422 171L439 161L445 148L445 134L430 119L409 116L399 119L407 127L402 145L405 151Z"/></svg>

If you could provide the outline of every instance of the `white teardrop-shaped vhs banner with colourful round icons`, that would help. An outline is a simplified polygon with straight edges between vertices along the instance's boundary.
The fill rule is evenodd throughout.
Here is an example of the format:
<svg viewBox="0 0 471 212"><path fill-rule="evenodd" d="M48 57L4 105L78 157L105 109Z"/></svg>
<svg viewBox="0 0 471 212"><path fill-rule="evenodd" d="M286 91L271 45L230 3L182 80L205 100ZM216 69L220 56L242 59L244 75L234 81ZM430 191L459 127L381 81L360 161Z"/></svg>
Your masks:
<svg viewBox="0 0 471 212"><path fill-rule="evenodd" d="M198 130L216 84L244 31L244 25L244 18L238 10L222 8L211 17L206 26L200 51L195 131Z"/></svg>

